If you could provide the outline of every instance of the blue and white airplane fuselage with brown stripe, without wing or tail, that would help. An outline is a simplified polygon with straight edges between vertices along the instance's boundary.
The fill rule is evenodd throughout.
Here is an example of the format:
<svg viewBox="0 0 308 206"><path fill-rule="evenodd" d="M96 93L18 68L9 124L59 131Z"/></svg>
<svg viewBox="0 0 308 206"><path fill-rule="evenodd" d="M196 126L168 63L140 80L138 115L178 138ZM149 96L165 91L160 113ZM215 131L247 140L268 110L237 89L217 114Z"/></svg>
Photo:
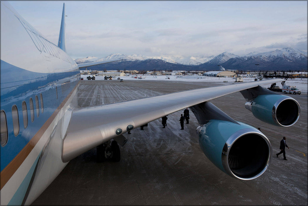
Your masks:
<svg viewBox="0 0 308 206"><path fill-rule="evenodd" d="M62 138L80 73L71 57L1 3L1 204L31 204L67 164Z"/></svg>

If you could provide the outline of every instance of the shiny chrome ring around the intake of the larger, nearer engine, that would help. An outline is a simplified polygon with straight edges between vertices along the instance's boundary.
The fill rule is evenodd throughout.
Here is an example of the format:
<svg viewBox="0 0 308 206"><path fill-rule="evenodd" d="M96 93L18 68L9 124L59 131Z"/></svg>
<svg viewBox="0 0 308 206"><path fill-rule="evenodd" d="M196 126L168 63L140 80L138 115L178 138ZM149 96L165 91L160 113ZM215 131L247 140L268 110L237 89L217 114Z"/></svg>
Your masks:
<svg viewBox="0 0 308 206"><path fill-rule="evenodd" d="M261 137L263 137L263 139L266 141L266 143L268 145L269 156L267 157L267 160L266 160L267 162L266 162L265 167L263 168L263 170L259 174L255 175L251 178L242 178L242 177L239 177L232 172L232 170L229 167L228 157L229 157L229 152L230 152L230 149L231 149L233 143L237 139L239 139L240 137L247 135L247 134L257 134L257 135L260 135ZM225 149L226 149L226 151L225 151ZM235 177L237 179L241 179L241 180L252 180L252 179L256 179L257 177L261 176L265 172L265 170L270 165L271 156L272 156L272 146L270 144L270 141L267 139L267 137L262 132L257 130L256 128L244 128L244 129L241 129L241 130L238 130L237 132L235 132L226 141L224 149L221 153L221 162L222 162L222 166L224 167L226 173L229 174L230 176Z"/></svg>

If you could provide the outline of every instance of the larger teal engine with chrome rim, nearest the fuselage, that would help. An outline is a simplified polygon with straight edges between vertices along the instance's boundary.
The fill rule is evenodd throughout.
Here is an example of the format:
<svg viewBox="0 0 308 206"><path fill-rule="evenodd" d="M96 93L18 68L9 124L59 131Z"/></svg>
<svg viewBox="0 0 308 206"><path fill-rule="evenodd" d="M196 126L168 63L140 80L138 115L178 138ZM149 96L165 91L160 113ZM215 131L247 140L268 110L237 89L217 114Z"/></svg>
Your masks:
<svg viewBox="0 0 308 206"><path fill-rule="evenodd" d="M237 123L209 120L197 128L199 145L223 172L241 180L255 179L269 166L272 147L262 132Z"/></svg>

